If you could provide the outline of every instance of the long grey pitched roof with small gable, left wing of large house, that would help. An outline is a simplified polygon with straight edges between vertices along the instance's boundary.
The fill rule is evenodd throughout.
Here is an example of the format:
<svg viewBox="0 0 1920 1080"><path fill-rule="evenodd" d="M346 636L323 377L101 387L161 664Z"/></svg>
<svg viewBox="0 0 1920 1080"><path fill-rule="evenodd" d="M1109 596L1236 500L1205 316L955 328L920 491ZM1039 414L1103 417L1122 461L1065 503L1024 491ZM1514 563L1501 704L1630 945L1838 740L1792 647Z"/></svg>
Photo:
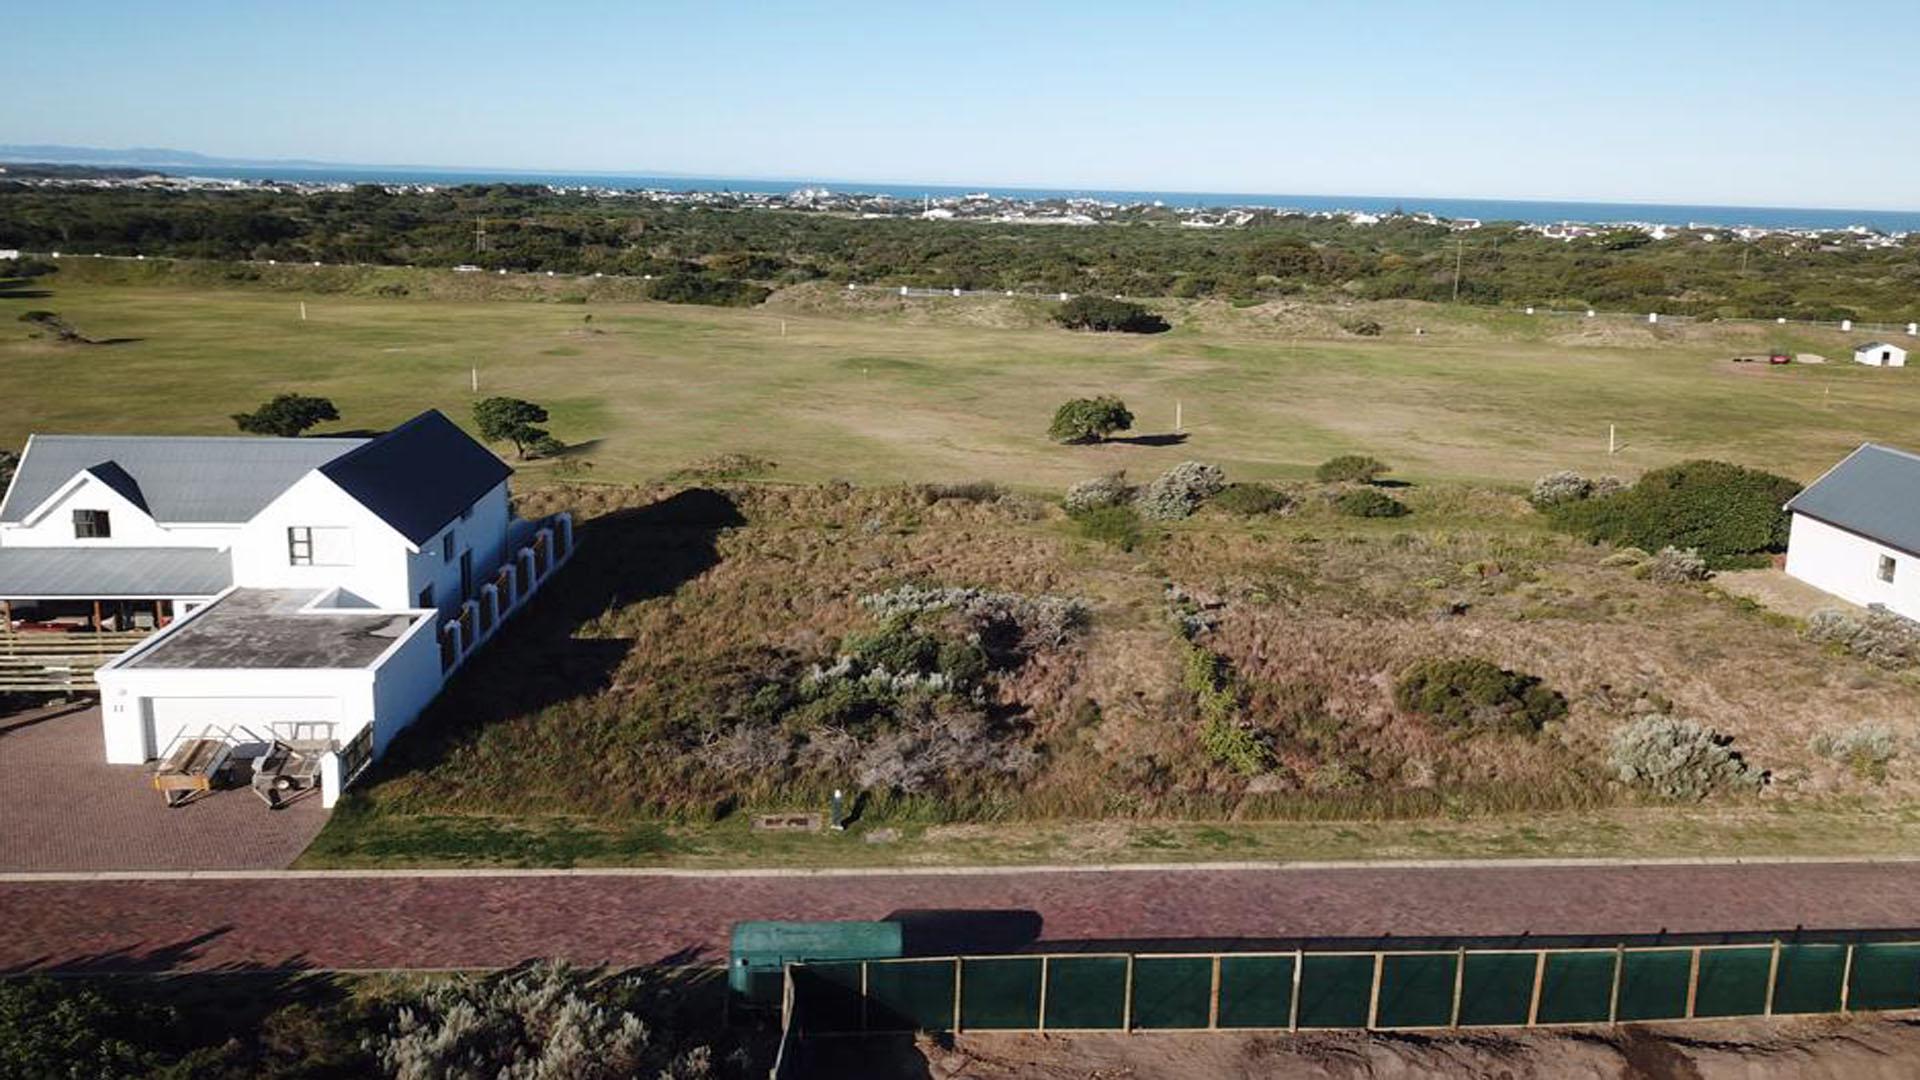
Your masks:
<svg viewBox="0 0 1920 1080"><path fill-rule="evenodd" d="M75 473L92 471L154 521L242 523L294 480L365 444L365 438L36 434L0 503L0 521L23 521Z"/></svg>

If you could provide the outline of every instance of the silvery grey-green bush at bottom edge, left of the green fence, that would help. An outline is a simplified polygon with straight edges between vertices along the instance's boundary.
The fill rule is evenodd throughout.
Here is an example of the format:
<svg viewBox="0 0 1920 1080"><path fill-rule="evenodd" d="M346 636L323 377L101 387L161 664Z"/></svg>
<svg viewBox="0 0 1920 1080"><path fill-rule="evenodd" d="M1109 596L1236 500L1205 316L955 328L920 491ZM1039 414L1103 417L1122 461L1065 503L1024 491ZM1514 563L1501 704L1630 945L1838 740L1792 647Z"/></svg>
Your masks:
<svg viewBox="0 0 1920 1080"><path fill-rule="evenodd" d="M401 1005L372 1051L401 1080L712 1076L707 1047L676 1053L609 1001L626 986L591 986L566 965L432 984Z"/></svg>

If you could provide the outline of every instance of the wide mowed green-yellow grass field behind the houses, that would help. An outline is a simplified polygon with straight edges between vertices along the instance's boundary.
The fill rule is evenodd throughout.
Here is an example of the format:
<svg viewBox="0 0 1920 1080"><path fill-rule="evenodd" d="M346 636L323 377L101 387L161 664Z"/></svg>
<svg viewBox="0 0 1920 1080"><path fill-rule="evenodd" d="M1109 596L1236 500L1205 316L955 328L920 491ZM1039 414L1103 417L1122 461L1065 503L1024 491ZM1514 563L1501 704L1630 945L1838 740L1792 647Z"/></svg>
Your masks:
<svg viewBox="0 0 1920 1080"><path fill-rule="evenodd" d="M555 434L605 480L726 452L778 461L793 480L1021 488L1188 457L1236 477L1302 477L1346 452L1417 480L1634 475L1699 455L1805 480L1862 440L1914 442L1920 421L1920 371L1857 367L1845 361L1851 338L1805 329L1655 334L1615 323L1582 334L1601 327L1398 306L1379 340L1288 338L1179 313L1173 332L1131 338L972 325L958 302L952 319L935 309L906 321L818 306L388 300L75 275L35 286L52 296L0 300L0 446L35 430L232 432L228 413L286 390L332 398L336 430L382 429L428 405L465 421L474 369L482 396L545 404ZM17 321L36 307L88 336L134 340L36 340ZM1836 363L1728 363L1776 336ZM1048 444L1054 405L1096 392L1127 400L1133 434L1171 432L1179 407L1188 440ZM1609 423L1622 442L1615 455Z"/></svg>

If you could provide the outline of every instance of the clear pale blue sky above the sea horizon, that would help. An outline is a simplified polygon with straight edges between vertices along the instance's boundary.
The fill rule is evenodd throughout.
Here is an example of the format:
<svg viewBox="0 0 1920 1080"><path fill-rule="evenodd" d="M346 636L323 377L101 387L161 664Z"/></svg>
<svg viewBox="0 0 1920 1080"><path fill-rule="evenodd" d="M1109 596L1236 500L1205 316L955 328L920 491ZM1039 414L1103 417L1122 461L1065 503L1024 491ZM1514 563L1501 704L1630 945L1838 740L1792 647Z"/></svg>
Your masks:
<svg viewBox="0 0 1920 1080"><path fill-rule="evenodd" d="M4 27L0 142L1920 208L1912 0L60 0Z"/></svg>

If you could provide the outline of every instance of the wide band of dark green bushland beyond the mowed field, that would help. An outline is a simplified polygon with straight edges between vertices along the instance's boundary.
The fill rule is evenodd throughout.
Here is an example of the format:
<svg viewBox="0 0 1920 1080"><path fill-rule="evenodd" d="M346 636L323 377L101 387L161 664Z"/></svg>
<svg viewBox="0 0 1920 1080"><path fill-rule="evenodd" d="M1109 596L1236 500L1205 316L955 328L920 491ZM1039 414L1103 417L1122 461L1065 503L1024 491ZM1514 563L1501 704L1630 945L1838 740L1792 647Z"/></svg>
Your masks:
<svg viewBox="0 0 1920 1080"><path fill-rule="evenodd" d="M484 227L484 240L476 238ZM1707 236L1713 236L1711 240ZM534 184L388 194L154 192L0 184L0 246L205 259L282 259L655 275L660 300L753 304L801 281L1020 288L1094 296L1461 300L1701 317L1914 317L1920 238L1624 229L1551 240L1515 223L1467 234L1409 217L1379 225L1256 213L1192 231L1137 225L849 219L551 194ZM1457 267L1457 277L1455 277ZM1354 334L1373 327L1356 323Z"/></svg>

